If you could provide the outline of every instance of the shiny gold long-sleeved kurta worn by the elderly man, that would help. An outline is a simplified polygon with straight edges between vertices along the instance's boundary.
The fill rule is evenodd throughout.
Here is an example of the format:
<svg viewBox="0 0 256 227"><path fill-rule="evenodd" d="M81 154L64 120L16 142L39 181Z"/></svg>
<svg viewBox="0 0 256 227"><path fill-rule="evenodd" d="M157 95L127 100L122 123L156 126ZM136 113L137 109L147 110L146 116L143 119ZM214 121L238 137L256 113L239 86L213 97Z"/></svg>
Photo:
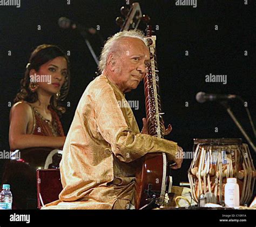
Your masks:
<svg viewBox="0 0 256 227"><path fill-rule="evenodd" d="M59 200L43 209L127 209L139 158L177 143L139 132L124 94L105 75L87 86L63 148Z"/></svg>

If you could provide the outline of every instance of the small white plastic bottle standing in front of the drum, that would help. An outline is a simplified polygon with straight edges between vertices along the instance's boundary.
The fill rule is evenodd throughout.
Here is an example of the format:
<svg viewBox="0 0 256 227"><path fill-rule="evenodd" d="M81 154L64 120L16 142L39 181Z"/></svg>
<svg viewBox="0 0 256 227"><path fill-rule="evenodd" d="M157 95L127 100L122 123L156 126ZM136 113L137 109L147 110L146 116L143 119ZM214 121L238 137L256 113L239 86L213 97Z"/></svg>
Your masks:
<svg viewBox="0 0 256 227"><path fill-rule="evenodd" d="M225 184L225 207L239 207L239 185L237 178L227 178Z"/></svg>

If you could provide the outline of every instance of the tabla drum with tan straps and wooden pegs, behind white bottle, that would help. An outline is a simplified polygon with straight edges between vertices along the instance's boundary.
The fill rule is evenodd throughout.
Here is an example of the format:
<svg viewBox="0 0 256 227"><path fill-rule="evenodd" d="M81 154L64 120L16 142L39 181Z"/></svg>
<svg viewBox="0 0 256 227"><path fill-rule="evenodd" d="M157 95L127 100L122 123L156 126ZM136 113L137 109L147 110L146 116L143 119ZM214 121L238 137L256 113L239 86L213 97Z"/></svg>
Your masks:
<svg viewBox="0 0 256 227"><path fill-rule="evenodd" d="M212 192L224 205L224 187L228 177L237 178L240 205L253 196L255 168L248 145L241 139L194 139L194 157L188 170L192 197Z"/></svg>

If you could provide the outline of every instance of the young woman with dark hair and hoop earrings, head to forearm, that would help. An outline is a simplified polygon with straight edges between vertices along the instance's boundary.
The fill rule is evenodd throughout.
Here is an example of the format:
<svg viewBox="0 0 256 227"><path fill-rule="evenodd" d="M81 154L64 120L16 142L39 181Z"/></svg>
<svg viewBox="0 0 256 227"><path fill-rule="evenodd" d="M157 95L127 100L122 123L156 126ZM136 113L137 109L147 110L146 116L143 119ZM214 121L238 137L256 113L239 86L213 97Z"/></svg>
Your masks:
<svg viewBox="0 0 256 227"><path fill-rule="evenodd" d="M10 111L11 150L30 147L62 148L65 136L59 116L68 95L69 60L55 45L37 46L21 80L21 90Z"/></svg>

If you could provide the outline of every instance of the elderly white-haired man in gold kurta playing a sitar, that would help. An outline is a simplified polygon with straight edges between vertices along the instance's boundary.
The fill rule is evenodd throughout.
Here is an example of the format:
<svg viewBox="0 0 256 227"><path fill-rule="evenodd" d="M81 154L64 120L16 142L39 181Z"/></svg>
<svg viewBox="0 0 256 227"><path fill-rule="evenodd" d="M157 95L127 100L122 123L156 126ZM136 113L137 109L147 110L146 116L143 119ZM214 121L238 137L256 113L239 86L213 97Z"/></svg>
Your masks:
<svg viewBox="0 0 256 227"><path fill-rule="evenodd" d="M100 56L102 73L84 91L63 148L59 200L43 209L130 209L140 157L164 152L181 167L176 142L139 128L124 93L136 89L150 61L147 40L139 31L118 32ZM180 157L180 159L178 159Z"/></svg>

